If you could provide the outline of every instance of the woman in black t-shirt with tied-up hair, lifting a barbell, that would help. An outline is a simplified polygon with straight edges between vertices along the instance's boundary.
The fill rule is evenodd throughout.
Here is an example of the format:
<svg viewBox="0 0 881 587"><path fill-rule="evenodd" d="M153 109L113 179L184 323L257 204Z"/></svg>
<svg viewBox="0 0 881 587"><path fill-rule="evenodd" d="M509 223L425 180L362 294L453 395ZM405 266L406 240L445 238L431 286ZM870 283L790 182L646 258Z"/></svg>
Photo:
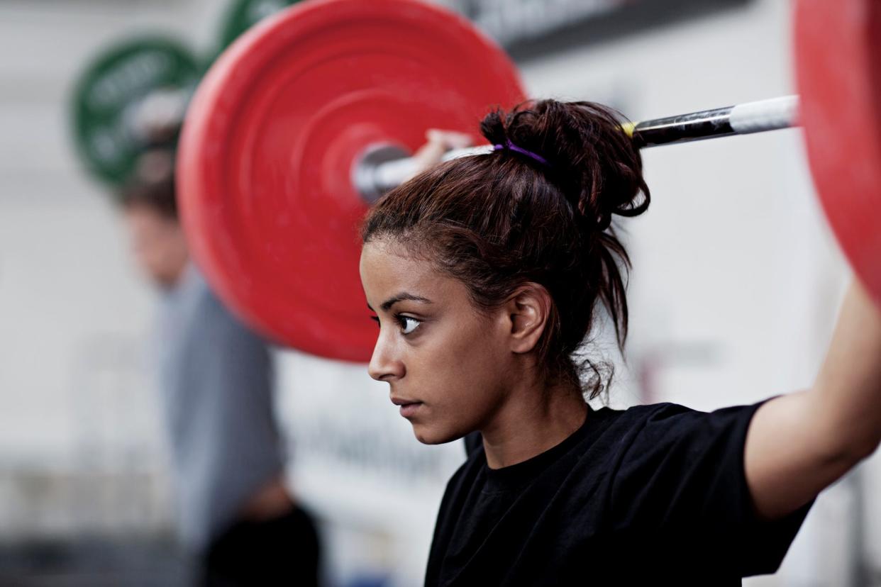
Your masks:
<svg viewBox="0 0 881 587"><path fill-rule="evenodd" d="M740 584L776 570L813 498L881 436L881 315L858 283L810 390L707 414L591 409L578 351L603 305L623 346L613 215L648 208L611 110L544 100L481 125L488 155L377 202L361 279L369 371L419 441L479 431L449 481L428 585Z"/></svg>

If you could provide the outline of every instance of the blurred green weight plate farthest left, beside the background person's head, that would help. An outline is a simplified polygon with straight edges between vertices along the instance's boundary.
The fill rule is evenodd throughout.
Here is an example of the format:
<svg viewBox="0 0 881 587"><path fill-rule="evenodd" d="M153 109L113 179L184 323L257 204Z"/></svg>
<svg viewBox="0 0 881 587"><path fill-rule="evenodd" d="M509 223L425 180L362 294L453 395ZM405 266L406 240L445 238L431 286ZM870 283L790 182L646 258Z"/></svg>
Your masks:
<svg viewBox="0 0 881 587"><path fill-rule="evenodd" d="M200 66L175 40L142 37L117 44L85 69L73 92L71 117L78 155L90 172L112 186L127 180L147 144L133 120L148 96L186 96Z"/></svg>

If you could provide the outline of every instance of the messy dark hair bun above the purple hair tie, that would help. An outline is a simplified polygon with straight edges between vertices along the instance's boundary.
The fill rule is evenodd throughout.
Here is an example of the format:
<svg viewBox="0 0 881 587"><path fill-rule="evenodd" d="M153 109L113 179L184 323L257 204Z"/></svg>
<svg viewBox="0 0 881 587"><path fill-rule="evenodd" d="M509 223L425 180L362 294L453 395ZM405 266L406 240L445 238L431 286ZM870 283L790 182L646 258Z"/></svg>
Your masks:
<svg viewBox="0 0 881 587"><path fill-rule="evenodd" d="M546 173L584 221L598 231L611 216L638 216L650 195L642 158L621 126L624 116L594 102L524 102L487 114L480 130L492 144L515 144L548 162Z"/></svg>

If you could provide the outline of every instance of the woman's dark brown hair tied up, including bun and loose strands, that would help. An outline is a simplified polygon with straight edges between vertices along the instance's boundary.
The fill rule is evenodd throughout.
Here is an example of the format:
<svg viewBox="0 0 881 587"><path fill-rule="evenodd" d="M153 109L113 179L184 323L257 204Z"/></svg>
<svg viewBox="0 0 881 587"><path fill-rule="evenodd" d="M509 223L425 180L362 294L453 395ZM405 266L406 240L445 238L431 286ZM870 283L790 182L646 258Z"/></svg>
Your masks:
<svg viewBox="0 0 881 587"><path fill-rule="evenodd" d="M547 165L510 148L438 165L382 197L361 236L425 255L463 282L478 308L497 307L524 283L542 285L553 308L540 364L552 380L594 398L608 387L611 366L576 351L597 301L622 349L627 333L630 260L612 216L637 216L649 202L622 121L606 106L552 99L488 114L480 129L490 143L529 150Z"/></svg>

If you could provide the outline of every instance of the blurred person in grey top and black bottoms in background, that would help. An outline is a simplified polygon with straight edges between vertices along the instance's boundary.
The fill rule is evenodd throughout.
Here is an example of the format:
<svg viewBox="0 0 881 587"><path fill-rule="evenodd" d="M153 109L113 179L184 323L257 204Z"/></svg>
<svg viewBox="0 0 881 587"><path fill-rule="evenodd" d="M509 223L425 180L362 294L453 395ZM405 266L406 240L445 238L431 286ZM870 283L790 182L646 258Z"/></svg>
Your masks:
<svg viewBox="0 0 881 587"><path fill-rule="evenodd" d="M270 349L191 262L172 161L146 154L121 201L134 258L162 298L152 358L181 543L200 585L315 585L319 539L283 481Z"/></svg>

